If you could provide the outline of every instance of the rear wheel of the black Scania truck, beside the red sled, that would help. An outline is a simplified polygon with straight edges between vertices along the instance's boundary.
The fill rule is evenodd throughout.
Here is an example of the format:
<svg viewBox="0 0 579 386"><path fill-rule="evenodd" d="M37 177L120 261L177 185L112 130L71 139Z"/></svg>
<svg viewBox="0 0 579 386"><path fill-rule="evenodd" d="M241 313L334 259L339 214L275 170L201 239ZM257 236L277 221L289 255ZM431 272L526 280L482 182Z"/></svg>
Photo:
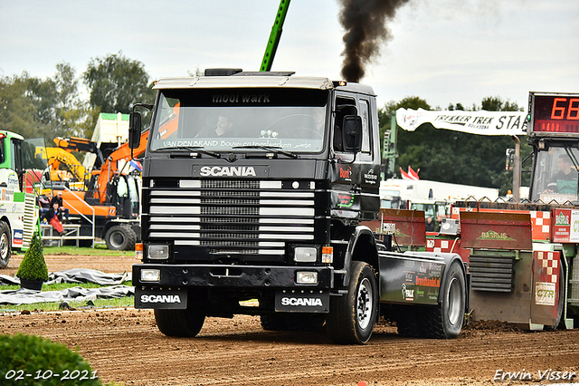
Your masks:
<svg viewBox="0 0 579 386"><path fill-rule="evenodd" d="M458 262L448 268L440 289L441 302L424 306L421 315L421 336L424 338L456 338L462 329L466 304L466 280Z"/></svg>

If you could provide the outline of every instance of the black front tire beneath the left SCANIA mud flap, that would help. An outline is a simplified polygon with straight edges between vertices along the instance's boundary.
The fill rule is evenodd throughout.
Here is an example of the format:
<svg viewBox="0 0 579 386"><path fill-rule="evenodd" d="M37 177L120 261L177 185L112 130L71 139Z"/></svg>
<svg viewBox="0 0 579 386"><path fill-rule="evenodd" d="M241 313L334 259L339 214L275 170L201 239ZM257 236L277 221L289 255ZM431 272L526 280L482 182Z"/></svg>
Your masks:
<svg viewBox="0 0 579 386"><path fill-rule="evenodd" d="M194 337L201 331L205 314L189 305L185 310L155 310L155 321L166 336Z"/></svg>

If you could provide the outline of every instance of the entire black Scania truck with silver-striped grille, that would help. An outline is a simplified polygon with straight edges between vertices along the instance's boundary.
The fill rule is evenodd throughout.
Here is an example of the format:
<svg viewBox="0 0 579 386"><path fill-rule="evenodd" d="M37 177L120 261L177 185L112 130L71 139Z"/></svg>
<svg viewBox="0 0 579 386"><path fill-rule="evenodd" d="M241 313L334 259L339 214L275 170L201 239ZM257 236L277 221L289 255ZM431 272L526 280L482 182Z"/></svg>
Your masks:
<svg viewBox="0 0 579 386"><path fill-rule="evenodd" d="M155 89L133 284L162 333L195 336L206 316L233 314L336 343L367 342L381 314L404 335L460 333L460 256L393 252L383 234L394 226L380 222L370 87L214 69ZM140 130L133 112L132 147Z"/></svg>

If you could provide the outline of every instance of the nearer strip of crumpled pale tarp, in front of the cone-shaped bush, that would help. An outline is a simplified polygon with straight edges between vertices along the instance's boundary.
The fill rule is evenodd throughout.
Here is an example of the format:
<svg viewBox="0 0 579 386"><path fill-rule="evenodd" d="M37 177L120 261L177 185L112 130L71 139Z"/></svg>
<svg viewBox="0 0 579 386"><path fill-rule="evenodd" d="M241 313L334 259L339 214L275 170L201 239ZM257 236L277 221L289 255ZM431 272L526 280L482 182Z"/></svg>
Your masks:
<svg viewBox="0 0 579 386"><path fill-rule="evenodd" d="M135 287L129 285L113 285L101 288L73 287L61 291L44 292L20 288L0 291L0 304L86 302L95 299L112 299L134 295Z"/></svg>

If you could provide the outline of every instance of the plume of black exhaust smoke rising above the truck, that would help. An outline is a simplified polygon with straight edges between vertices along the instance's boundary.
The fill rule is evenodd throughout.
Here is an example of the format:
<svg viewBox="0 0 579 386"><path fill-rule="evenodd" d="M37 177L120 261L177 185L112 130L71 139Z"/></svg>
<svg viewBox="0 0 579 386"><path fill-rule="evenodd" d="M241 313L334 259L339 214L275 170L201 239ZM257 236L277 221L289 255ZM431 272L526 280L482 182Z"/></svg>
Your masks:
<svg viewBox="0 0 579 386"><path fill-rule="evenodd" d="M396 10L409 0L340 0L340 24L346 30L342 77L359 82L364 67L380 54L380 45L392 38L386 21L394 19Z"/></svg>

